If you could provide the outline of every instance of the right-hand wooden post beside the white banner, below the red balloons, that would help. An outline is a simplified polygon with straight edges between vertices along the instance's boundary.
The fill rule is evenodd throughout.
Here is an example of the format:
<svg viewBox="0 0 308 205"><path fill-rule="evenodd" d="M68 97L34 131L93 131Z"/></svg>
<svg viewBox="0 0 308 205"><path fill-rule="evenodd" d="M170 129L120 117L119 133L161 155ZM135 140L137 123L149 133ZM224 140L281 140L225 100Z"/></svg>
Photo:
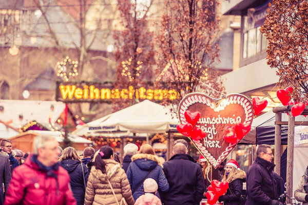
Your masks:
<svg viewBox="0 0 308 205"><path fill-rule="evenodd" d="M289 113L287 131L287 156L286 156L286 193L293 196L293 153L294 153L294 122L295 117ZM292 203L292 199L287 198L287 203Z"/></svg>

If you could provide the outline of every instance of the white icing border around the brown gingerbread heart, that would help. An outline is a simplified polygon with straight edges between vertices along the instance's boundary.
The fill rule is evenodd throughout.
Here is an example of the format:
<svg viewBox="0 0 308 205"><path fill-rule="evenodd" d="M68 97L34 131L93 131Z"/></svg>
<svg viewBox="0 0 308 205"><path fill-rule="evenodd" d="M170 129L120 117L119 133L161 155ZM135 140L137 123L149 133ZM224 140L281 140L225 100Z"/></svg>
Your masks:
<svg viewBox="0 0 308 205"><path fill-rule="evenodd" d="M239 104L241 105L244 110L245 110L245 114L246 114L246 118L243 124L252 124L253 121L253 106L250 103L250 101L244 96L244 95L240 95L240 94L229 94L226 96L225 99L223 99L222 101L220 101L218 107L216 107L216 104L214 102L211 102L211 99L205 97L205 96L201 96L199 94L202 93L194 93L194 95L191 95L189 97L187 97L185 99L185 97L183 99L185 99L184 101L182 100L180 102L180 105L182 103L181 108L179 107L179 118L180 118L180 122L181 124L186 124L187 121L184 117L184 113L186 110L188 110L188 107L195 104L195 103L203 103L206 104L208 107L210 107L211 109L213 109L215 112L219 112L221 110L224 110L226 106L230 105L230 104ZM237 96L235 96L237 95ZM234 147L237 144L229 144L229 146L225 149L225 151L223 153L221 153L221 155L219 156L219 158L216 160L203 146L203 144L200 142L200 140L194 140L192 139L195 143L195 145L198 147L199 151L202 152L202 154L206 157L206 159L215 167L217 168L218 165L221 163L222 160L224 160L226 158L226 156L230 153L230 151L232 151L234 149ZM200 146L201 145L201 146Z"/></svg>

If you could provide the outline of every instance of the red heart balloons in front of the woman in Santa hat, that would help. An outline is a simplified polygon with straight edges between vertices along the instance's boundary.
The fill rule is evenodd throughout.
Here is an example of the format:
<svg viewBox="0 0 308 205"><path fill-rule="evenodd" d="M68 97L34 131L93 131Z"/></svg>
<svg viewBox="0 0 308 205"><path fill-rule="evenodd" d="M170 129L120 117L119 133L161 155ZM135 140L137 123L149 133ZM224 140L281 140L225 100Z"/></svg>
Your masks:
<svg viewBox="0 0 308 205"><path fill-rule="evenodd" d="M229 184L226 181L220 182L216 179L211 181L210 186L207 188L208 191L205 193L207 204L215 204L218 201L218 198L222 196L228 188Z"/></svg>

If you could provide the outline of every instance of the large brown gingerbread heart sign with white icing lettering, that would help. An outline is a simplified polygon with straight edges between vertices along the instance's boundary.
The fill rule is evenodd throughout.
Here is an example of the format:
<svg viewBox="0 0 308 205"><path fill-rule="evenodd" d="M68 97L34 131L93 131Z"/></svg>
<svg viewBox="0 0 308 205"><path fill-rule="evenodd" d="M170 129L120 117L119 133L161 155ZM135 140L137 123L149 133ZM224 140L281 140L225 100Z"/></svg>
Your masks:
<svg viewBox="0 0 308 205"><path fill-rule="evenodd" d="M215 169L236 146L223 139L226 134L225 127L235 126L237 121L251 125L254 116L251 101L240 94L230 94L215 101L203 93L190 93L179 104L181 124L187 123L184 115L187 110L200 112L200 119L195 127L200 127L206 136L203 139L191 140Z"/></svg>

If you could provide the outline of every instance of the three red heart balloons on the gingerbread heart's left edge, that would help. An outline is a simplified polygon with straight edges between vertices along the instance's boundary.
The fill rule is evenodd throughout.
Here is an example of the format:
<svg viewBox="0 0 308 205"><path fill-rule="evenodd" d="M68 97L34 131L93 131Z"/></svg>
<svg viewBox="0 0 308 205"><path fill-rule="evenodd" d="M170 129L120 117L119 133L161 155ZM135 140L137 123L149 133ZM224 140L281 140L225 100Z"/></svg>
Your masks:
<svg viewBox="0 0 308 205"><path fill-rule="evenodd" d="M202 139L206 136L206 133L199 127L195 127L196 123L200 119L200 112L190 112L189 110L184 112L184 117L187 121L186 124L180 124L177 126L178 131L187 137L194 140Z"/></svg>

